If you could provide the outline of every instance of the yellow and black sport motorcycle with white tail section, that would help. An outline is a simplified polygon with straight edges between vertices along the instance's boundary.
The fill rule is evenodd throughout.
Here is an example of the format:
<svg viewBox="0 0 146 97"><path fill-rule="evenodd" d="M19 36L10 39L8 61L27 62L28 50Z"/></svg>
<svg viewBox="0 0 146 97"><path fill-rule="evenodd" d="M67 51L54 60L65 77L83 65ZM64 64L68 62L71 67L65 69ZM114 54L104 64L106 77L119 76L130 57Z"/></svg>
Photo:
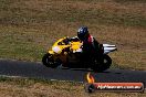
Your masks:
<svg viewBox="0 0 146 97"><path fill-rule="evenodd" d="M112 64L112 58L107 54L117 50L115 45L98 44L97 53L86 55L87 60L82 60L82 47L83 43L77 37L62 37L43 55L42 63L51 68L63 66L103 72L109 68Z"/></svg>

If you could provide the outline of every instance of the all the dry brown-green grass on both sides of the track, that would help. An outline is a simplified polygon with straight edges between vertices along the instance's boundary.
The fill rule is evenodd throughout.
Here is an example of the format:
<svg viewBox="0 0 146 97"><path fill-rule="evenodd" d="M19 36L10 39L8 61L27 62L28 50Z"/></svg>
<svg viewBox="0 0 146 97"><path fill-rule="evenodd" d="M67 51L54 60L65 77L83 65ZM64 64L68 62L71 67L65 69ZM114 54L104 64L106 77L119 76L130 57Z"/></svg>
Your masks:
<svg viewBox="0 0 146 97"><path fill-rule="evenodd" d="M118 51L109 54L114 61L112 67L146 71L146 0L0 0L0 58L41 62L58 39L76 35L81 25L88 26L98 42L117 46ZM73 87L71 83L66 87L53 83L52 87L33 80L27 80L27 86L23 79L0 80L3 97L145 96L88 95L82 85ZM18 84L19 80L22 82Z"/></svg>

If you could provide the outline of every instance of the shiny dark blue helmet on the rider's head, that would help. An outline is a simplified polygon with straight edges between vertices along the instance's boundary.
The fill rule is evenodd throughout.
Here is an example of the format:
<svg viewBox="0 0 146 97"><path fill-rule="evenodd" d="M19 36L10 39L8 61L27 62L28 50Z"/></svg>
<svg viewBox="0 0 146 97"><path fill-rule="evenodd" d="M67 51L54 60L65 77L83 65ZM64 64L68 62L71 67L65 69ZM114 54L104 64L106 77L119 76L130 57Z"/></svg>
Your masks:
<svg viewBox="0 0 146 97"><path fill-rule="evenodd" d="M80 40L83 41L87 35L88 35L87 26L82 26L82 28L79 29L79 31L77 31L77 37Z"/></svg>

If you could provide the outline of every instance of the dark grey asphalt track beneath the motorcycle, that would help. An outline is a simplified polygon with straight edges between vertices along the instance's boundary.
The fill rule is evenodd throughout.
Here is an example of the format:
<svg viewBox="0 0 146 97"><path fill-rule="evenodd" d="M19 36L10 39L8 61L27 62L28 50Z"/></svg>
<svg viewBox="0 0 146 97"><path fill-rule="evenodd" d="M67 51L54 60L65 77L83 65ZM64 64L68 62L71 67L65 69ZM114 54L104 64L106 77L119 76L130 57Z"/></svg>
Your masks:
<svg viewBox="0 0 146 97"><path fill-rule="evenodd" d="M41 63L0 61L0 75L31 78L84 82L88 71L48 68ZM107 69L104 73L93 73L95 82L143 82L146 83L146 72Z"/></svg>

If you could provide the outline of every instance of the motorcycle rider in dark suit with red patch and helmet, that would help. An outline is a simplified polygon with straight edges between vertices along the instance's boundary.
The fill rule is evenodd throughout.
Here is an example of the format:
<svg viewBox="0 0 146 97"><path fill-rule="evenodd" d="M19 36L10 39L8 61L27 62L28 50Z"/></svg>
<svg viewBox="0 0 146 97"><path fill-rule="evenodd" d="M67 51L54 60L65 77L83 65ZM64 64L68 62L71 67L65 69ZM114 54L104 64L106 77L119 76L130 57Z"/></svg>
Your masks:
<svg viewBox="0 0 146 97"><path fill-rule="evenodd" d="M83 60L98 54L100 43L88 33L87 26L81 26L77 31L77 37L83 42Z"/></svg>

